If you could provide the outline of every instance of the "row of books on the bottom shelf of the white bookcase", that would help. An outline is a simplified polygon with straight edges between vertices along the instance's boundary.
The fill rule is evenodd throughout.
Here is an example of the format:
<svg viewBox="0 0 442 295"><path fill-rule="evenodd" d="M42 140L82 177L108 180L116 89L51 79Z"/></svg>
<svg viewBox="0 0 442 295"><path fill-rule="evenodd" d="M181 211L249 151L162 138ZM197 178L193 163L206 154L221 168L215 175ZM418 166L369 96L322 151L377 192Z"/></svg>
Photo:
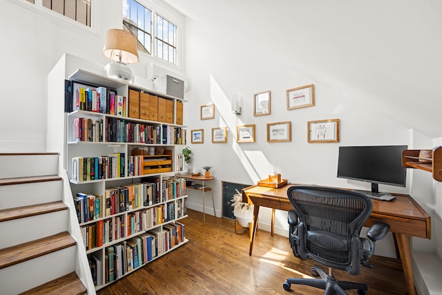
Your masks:
<svg viewBox="0 0 442 295"><path fill-rule="evenodd" d="M104 249L104 261L98 254L88 257L93 283L96 286L111 283L184 240L185 225L174 222L164 225L163 229L152 229L140 236L108 246Z"/></svg>

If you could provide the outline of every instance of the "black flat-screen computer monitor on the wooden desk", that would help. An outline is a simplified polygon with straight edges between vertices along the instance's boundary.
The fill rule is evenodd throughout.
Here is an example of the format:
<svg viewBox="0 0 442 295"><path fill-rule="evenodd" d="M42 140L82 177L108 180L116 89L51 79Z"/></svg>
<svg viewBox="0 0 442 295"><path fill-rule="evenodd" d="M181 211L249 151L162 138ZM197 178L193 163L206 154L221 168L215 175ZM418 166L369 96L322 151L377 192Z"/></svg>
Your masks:
<svg viewBox="0 0 442 295"><path fill-rule="evenodd" d="M372 191L378 193L378 184L405 187L406 171L402 166L405 145L394 146L340 146L338 178L372 182Z"/></svg>

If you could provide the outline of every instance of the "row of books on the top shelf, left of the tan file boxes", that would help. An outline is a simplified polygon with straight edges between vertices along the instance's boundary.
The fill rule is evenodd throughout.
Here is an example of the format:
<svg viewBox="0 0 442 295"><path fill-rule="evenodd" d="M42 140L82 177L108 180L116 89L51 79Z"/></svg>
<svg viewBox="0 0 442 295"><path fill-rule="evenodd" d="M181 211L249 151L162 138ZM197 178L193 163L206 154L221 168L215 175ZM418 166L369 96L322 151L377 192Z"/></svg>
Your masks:
<svg viewBox="0 0 442 295"><path fill-rule="evenodd" d="M75 89L73 93L73 111L91 111L126 117L127 98L109 91L105 87Z"/></svg>

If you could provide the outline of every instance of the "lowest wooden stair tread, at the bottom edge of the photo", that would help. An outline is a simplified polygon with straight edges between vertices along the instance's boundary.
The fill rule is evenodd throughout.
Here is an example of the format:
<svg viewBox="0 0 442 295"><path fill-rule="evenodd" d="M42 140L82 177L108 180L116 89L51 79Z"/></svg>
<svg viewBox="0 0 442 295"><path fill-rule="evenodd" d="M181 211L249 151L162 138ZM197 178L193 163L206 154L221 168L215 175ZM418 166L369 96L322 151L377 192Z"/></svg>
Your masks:
<svg viewBox="0 0 442 295"><path fill-rule="evenodd" d="M71 272L19 295L82 295L86 292L86 287L81 283L77 274Z"/></svg>

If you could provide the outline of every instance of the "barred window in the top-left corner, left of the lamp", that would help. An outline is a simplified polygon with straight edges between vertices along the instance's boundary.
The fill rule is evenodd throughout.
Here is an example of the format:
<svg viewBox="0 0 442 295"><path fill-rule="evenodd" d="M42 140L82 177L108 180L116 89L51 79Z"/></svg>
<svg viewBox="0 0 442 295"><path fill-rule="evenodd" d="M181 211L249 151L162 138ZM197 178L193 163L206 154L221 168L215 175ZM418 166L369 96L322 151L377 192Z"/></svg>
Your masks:
<svg viewBox="0 0 442 295"><path fill-rule="evenodd" d="M26 0L35 4L35 0ZM92 0L43 0L42 6L90 27Z"/></svg>

